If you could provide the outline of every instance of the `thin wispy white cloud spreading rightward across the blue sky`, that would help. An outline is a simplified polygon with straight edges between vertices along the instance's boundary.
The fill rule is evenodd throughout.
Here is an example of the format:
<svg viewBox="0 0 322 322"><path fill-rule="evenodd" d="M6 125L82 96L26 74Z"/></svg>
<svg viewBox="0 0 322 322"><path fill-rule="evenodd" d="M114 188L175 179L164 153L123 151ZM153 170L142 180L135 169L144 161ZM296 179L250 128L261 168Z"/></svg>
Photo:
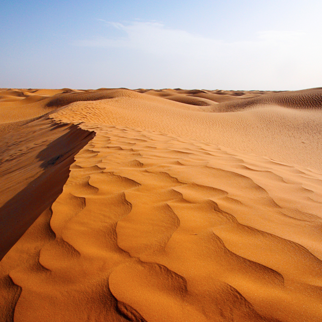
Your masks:
<svg viewBox="0 0 322 322"><path fill-rule="evenodd" d="M191 80L205 83L221 77L241 88L256 84L266 89L273 84L281 89L289 84L301 88L303 79L309 86L322 71L321 45L301 31L261 31L252 41L225 42L157 22L105 23L121 35L78 40L74 45L135 51L155 59L156 64L167 62L182 77L189 74Z"/></svg>

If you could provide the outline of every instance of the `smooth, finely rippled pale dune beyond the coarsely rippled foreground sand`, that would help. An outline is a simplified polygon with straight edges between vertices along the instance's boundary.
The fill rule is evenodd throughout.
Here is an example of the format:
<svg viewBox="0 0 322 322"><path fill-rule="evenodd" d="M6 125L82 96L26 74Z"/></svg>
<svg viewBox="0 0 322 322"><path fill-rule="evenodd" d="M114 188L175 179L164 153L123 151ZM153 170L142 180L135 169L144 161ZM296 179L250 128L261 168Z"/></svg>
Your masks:
<svg viewBox="0 0 322 322"><path fill-rule="evenodd" d="M128 90L111 90L109 97L71 103L56 117L73 123L141 129L150 129L152 122L153 130L158 132L322 170L318 161L320 142L312 136L322 133L322 115L318 110L289 109L261 102L240 112L232 105L234 109L229 111L235 113L209 113L226 110L223 104L228 103L193 106Z"/></svg>

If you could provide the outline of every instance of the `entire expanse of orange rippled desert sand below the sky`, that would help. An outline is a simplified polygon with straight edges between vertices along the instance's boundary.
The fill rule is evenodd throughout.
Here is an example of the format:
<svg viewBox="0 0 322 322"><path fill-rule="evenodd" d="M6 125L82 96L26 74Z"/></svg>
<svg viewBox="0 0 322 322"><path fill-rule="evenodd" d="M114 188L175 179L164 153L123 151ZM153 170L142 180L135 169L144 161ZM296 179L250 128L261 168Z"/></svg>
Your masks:
<svg viewBox="0 0 322 322"><path fill-rule="evenodd" d="M322 321L321 108L0 89L0 321Z"/></svg>

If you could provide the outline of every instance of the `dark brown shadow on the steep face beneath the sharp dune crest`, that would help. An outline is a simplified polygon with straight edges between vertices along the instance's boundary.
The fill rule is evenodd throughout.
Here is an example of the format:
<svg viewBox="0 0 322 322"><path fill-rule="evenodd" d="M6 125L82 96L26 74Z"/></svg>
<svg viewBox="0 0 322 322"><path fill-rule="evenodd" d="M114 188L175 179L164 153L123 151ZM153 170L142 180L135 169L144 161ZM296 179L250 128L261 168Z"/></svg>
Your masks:
<svg viewBox="0 0 322 322"><path fill-rule="evenodd" d="M0 208L0 260L62 193L74 156L94 135L71 125L68 132L37 154L43 172Z"/></svg>

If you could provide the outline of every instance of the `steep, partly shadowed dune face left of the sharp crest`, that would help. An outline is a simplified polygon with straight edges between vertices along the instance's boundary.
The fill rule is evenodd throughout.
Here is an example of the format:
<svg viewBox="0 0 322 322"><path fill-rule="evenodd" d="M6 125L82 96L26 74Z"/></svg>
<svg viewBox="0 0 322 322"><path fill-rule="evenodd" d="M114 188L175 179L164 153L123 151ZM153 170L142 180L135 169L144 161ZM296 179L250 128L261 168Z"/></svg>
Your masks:
<svg viewBox="0 0 322 322"><path fill-rule="evenodd" d="M93 137L48 117L0 125L0 259L61 194L73 156Z"/></svg>

